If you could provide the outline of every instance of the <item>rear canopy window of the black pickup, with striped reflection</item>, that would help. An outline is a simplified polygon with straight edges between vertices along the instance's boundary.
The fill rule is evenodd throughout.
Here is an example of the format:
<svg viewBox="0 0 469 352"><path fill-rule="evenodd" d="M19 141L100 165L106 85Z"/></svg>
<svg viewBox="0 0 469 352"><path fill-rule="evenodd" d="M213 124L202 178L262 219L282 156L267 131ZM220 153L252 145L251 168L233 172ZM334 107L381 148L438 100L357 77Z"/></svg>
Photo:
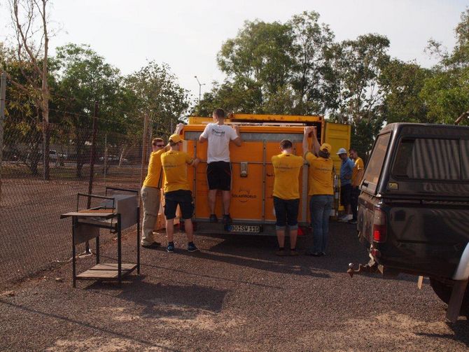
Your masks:
<svg viewBox="0 0 469 352"><path fill-rule="evenodd" d="M392 174L396 178L461 180L461 167L466 174L468 168L467 155L463 162L462 153L457 139L404 138L400 140Z"/></svg>

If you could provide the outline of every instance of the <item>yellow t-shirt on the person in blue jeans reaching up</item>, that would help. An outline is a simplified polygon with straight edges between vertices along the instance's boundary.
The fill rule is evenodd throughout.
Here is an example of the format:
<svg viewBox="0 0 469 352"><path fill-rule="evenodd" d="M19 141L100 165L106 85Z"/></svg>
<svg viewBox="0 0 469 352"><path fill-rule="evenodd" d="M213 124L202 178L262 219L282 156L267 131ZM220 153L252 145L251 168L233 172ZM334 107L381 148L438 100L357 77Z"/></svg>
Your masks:
<svg viewBox="0 0 469 352"><path fill-rule="evenodd" d="M304 155L304 159L309 164L308 174L308 195L333 195L334 181L332 178L332 159L316 157L311 152Z"/></svg>

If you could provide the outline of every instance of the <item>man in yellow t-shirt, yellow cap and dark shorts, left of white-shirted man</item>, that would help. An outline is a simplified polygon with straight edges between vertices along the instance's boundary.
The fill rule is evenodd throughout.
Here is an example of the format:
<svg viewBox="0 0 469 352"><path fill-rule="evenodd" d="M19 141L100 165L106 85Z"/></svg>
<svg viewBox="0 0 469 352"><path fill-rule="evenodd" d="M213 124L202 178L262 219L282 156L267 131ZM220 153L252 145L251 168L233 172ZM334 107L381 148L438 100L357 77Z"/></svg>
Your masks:
<svg viewBox="0 0 469 352"><path fill-rule="evenodd" d="M179 205L184 229L188 237L188 251L195 252L198 248L194 244L194 230L192 217L194 213L193 195L187 177L187 167L197 167L200 160L180 150L183 139L180 134L169 137L169 151L161 155L161 163L165 173L165 217L166 234L168 237L167 251L174 252L174 218L176 218L176 207Z"/></svg>

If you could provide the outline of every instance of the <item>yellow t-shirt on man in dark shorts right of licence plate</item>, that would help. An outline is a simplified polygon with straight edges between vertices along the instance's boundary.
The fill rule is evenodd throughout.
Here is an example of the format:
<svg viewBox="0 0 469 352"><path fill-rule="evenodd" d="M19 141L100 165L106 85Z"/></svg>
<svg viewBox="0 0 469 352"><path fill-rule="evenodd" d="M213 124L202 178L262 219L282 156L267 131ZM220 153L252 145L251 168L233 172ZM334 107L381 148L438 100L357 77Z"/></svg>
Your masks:
<svg viewBox="0 0 469 352"><path fill-rule="evenodd" d="M272 157L274 167L274 196L281 199L300 198L298 176L304 160L293 154L279 154Z"/></svg>

